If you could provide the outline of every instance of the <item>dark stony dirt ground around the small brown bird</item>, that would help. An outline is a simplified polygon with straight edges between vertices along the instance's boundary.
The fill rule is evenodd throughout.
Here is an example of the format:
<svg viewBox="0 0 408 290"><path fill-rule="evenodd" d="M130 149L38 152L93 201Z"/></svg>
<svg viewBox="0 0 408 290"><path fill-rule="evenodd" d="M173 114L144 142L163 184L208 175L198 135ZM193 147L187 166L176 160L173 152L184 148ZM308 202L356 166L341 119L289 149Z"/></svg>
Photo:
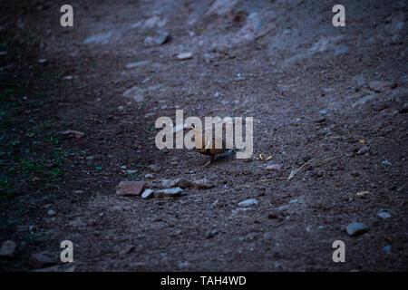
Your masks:
<svg viewBox="0 0 408 290"><path fill-rule="evenodd" d="M43 251L62 271L408 270L406 1L344 0L345 27L332 1L80 0L73 27L63 4L0 5L1 271ZM157 149L176 109L253 117L252 158ZM177 178L215 187L116 194Z"/></svg>

